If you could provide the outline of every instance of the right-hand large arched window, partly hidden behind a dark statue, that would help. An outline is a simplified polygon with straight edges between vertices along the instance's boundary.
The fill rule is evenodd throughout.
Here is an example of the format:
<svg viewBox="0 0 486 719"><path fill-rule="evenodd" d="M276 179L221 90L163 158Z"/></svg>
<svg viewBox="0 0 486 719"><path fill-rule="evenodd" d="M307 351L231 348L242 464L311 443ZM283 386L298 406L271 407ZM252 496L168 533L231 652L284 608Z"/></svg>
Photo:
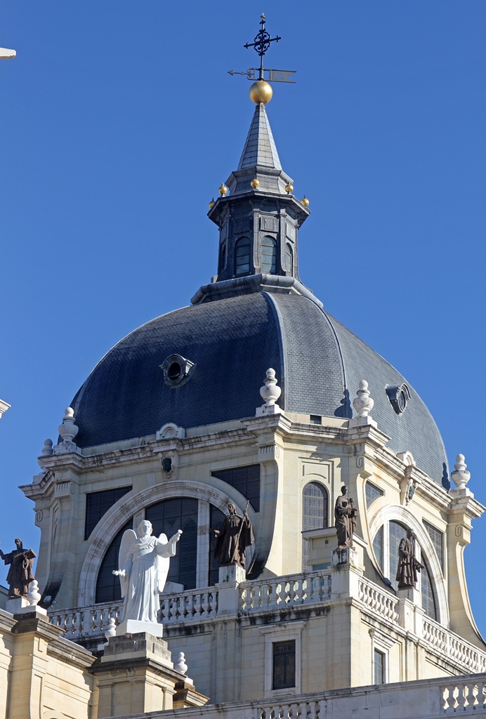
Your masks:
<svg viewBox="0 0 486 719"><path fill-rule="evenodd" d="M398 569L400 541L407 536L407 528L399 522L390 521L380 527L373 539L373 551L377 564L380 565L385 577L390 578L395 590L398 590L398 582L395 579ZM421 550L420 546L418 549ZM434 585L431 580L431 573L428 569L428 560L420 551L418 559L424 565L425 569L421 570L418 577L418 589L421 592L422 608L426 615L431 619L437 619L436 597L434 593Z"/></svg>

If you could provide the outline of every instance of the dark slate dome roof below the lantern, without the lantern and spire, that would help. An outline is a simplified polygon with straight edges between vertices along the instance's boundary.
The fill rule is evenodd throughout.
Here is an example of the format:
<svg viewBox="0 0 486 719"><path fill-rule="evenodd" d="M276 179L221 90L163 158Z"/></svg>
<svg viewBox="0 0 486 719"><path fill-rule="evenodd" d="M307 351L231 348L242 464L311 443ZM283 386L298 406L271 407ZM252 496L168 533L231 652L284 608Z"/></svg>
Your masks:
<svg viewBox="0 0 486 719"><path fill-rule="evenodd" d="M172 354L193 362L179 385L161 368ZM359 380L367 380L372 416L390 436L390 449L412 452L434 481L447 482L439 430L411 385L406 409L397 413L386 388L403 385L402 375L316 301L276 291L184 307L122 339L73 400L76 444L153 435L167 422L188 428L255 416L268 367L282 388L283 410L308 415L352 417Z"/></svg>

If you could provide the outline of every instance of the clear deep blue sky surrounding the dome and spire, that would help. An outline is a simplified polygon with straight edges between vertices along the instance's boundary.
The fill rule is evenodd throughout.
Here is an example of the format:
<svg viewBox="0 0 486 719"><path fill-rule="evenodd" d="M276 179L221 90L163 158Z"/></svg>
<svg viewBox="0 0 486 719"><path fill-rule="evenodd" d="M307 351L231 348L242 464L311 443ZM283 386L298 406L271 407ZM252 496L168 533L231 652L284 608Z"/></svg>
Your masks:
<svg viewBox="0 0 486 719"><path fill-rule="evenodd" d="M486 503L484 0L5 0L0 45L18 55L0 63L4 550L38 545L16 487L88 372L216 272L208 201L254 107L227 70L255 65L242 46L262 11L283 38L266 64L297 70L267 110L311 201L301 278L407 377ZM484 635L485 548L482 518L465 558Z"/></svg>

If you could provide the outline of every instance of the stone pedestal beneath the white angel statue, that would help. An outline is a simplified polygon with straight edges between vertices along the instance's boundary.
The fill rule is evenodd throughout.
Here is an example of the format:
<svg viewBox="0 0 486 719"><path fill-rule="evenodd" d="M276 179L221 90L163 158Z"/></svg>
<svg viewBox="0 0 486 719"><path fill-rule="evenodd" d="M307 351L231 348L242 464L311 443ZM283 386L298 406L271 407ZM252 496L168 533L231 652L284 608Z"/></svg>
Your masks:
<svg viewBox="0 0 486 719"><path fill-rule="evenodd" d="M183 679L167 642L147 632L110 637L92 672L98 677L98 719L173 709Z"/></svg>

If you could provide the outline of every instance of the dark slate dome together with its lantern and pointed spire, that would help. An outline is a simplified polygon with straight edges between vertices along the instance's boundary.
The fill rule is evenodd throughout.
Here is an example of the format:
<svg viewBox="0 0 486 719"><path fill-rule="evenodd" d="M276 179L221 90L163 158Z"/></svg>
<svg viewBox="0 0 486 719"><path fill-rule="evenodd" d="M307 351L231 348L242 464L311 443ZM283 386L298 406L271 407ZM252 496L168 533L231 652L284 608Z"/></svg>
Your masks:
<svg viewBox="0 0 486 719"><path fill-rule="evenodd" d="M309 423L352 418L366 380L390 449L411 452L446 485L444 444L421 398L301 283L298 232L309 210L292 183L260 102L238 168L208 212L219 228L216 281L101 359L73 400L78 446L151 436L168 422L187 429L255 416L273 367L280 406Z"/></svg>

